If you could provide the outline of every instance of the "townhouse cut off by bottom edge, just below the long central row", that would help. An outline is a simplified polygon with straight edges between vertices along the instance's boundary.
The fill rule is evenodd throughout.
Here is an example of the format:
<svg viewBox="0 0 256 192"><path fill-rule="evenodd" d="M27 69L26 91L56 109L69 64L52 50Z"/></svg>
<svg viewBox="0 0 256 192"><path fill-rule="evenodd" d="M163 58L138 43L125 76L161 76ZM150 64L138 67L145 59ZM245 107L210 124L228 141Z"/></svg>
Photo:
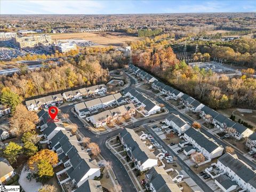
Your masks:
<svg viewBox="0 0 256 192"><path fill-rule="evenodd" d="M145 174L146 188L153 192L181 192L162 167L152 167Z"/></svg>

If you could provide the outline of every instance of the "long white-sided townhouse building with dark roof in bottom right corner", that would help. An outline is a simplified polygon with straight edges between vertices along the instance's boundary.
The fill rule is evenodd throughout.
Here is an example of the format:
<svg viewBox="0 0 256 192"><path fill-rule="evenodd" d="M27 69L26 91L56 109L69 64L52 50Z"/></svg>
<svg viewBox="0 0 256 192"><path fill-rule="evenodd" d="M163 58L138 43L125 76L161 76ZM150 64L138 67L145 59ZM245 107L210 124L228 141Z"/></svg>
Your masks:
<svg viewBox="0 0 256 192"><path fill-rule="evenodd" d="M219 167L220 171L222 171L223 174L226 174L231 181L241 187L243 191L256 191L256 172L253 171L249 165L238 159L237 155L228 153L222 155L218 159L217 167ZM217 180L217 185L221 185L221 182L219 181ZM234 186L234 183L229 186ZM225 189L227 188L225 185L222 187Z"/></svg>

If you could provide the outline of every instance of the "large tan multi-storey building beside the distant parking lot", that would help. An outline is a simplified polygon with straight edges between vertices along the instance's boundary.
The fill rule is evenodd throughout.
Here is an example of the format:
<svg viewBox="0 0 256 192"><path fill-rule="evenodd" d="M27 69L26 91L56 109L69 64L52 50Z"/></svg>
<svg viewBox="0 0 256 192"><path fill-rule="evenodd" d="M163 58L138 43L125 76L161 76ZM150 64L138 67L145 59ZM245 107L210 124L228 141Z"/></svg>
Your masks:
<svg viewBox="0 0 256 192"><path fill-rule="evenodd" d="M17 36L13 38L14 43L20 48L35 47L39 45L51 45L52 37L50 35L31 35Z"/></svg>

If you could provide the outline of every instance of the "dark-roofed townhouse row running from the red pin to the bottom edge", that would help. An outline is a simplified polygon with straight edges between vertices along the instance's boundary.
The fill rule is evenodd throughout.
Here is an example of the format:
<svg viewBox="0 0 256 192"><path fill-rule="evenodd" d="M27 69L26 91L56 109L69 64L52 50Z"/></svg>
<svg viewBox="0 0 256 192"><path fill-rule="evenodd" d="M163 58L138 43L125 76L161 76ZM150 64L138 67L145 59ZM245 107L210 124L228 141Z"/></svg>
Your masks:
<svg viewBox="0 0 256 192"><path fill-rule="evenodd" d="M103 191L99 181L100 167L92 160L85 149L79 144L76 135L65 130L62 123L52 122L47 110L38 112L39 128L44 136L43 143L58 154L60 171L56 173L61 188L71 191Z"/></svg>

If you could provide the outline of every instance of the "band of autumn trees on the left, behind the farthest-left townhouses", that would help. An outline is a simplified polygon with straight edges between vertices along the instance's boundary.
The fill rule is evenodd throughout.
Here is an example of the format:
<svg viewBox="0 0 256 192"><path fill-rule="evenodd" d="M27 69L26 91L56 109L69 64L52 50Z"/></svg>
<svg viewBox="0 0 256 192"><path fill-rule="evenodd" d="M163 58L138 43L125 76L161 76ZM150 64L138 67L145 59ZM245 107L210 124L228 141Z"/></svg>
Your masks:
<svg viewBox="0 0 256 192"><path fill-rule="evenodd" d="M95 52L60 59L60 66L1 76L0 101L14 111L20 101L36 95L91 86L109 80L108 69L123 67L129 58L119 51Z"/></svg>

